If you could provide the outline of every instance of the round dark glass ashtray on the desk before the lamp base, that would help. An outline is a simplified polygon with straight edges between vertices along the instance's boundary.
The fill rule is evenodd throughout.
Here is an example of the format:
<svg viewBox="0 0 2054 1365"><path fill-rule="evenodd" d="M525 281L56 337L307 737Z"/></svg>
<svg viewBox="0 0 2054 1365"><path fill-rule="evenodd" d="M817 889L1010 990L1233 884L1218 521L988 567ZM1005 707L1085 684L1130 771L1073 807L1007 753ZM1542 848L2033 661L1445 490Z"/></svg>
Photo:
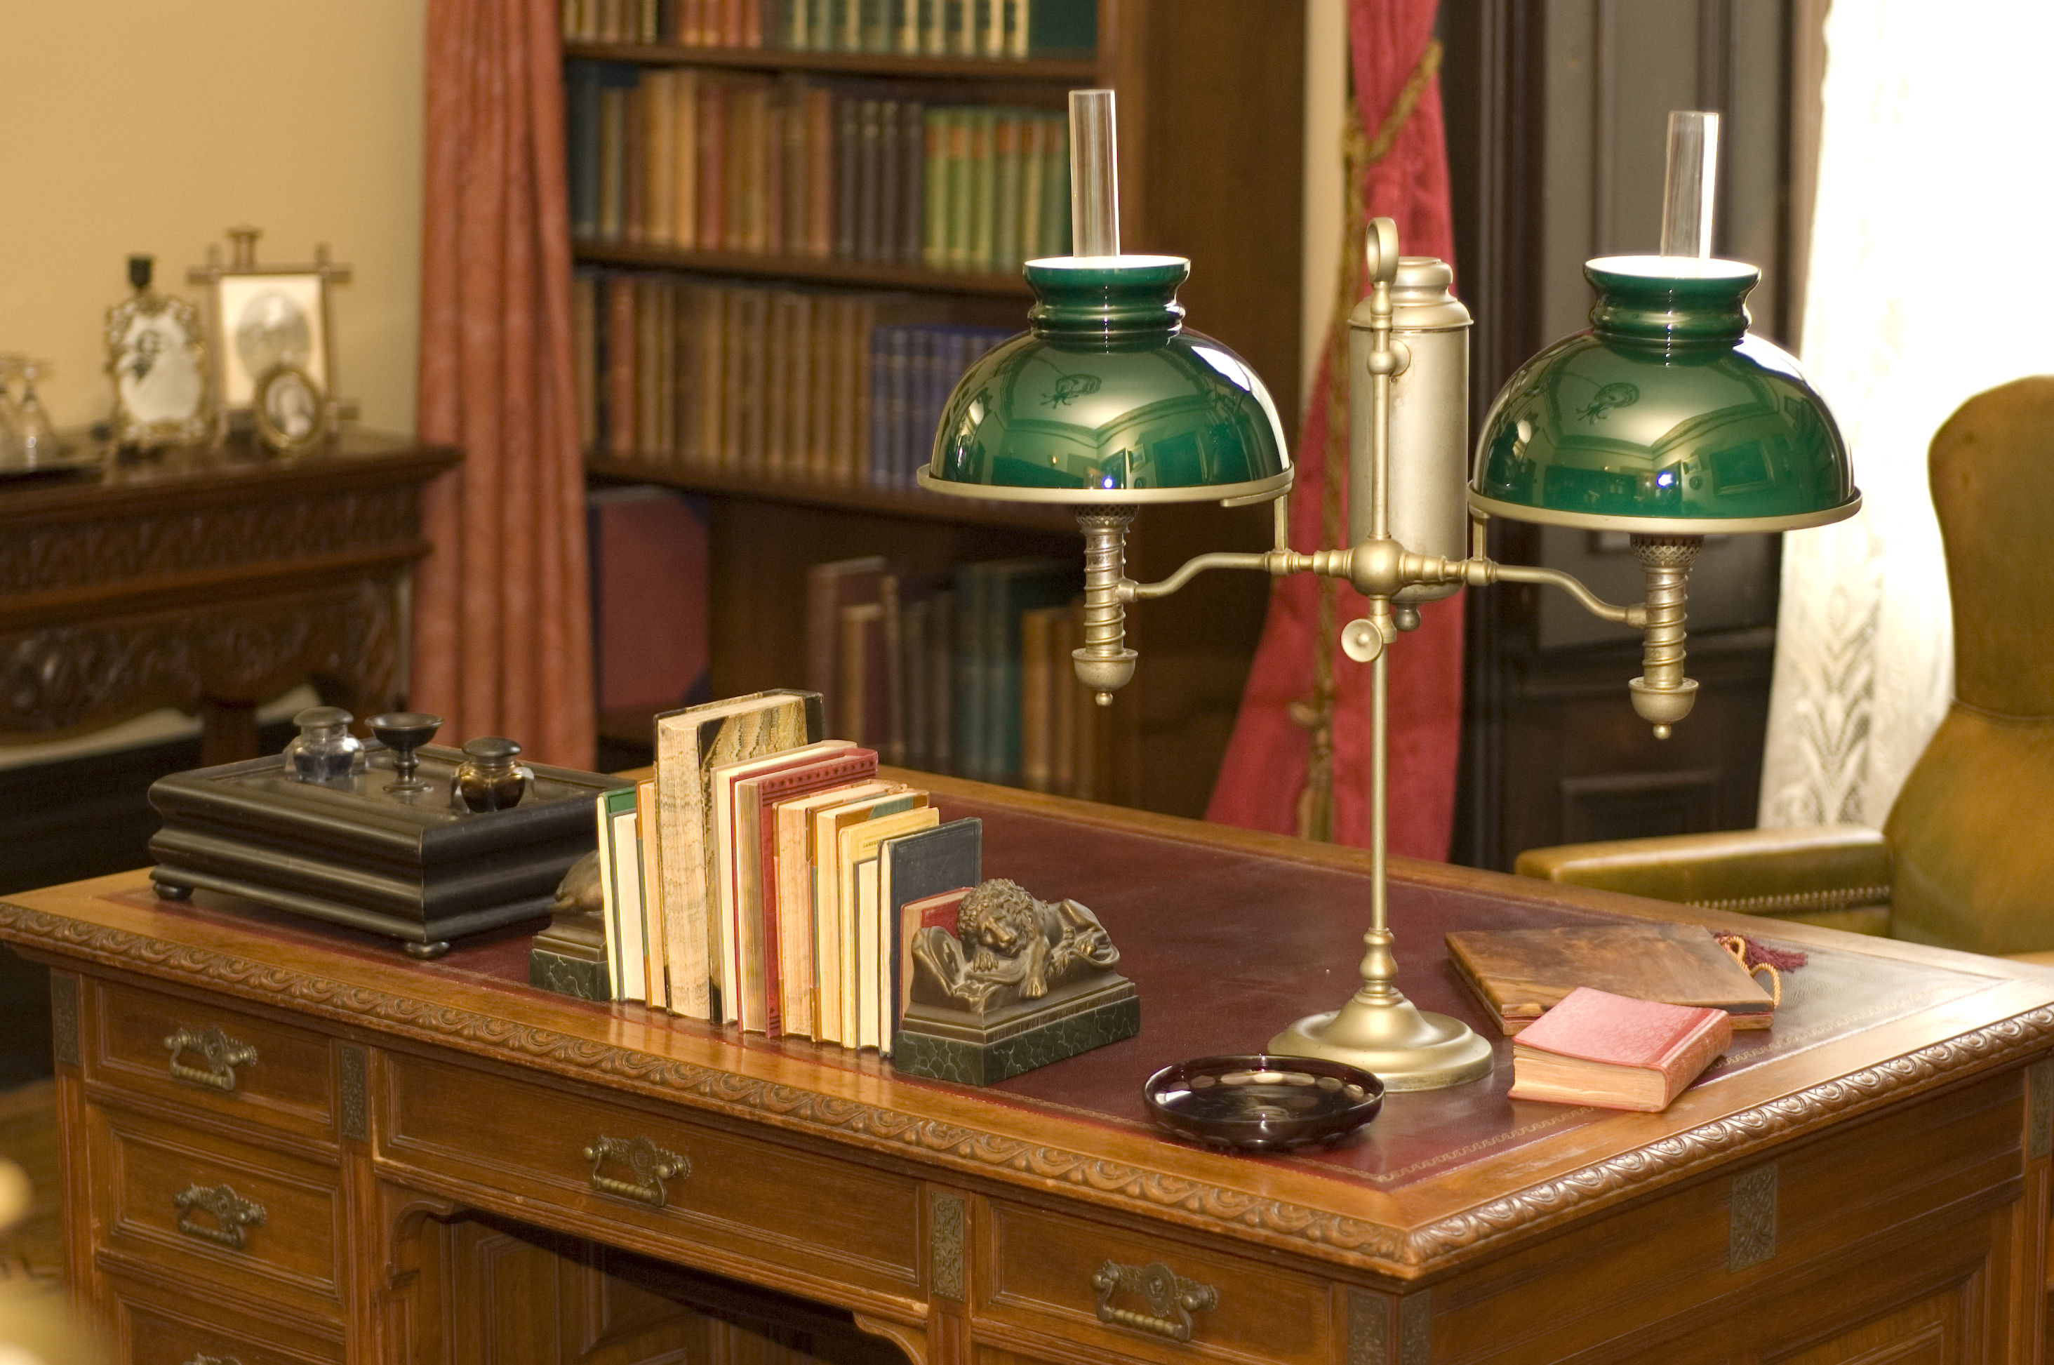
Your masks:
<svg viewBox="0 0 2054 1365"><path fill-rule="evenodd" d="M1384 1106L1384 1082L1319 1057L1195 1057L1142 1086L1148 1117L1179 1137L1237 1152L1337 1143Z"/></svg>

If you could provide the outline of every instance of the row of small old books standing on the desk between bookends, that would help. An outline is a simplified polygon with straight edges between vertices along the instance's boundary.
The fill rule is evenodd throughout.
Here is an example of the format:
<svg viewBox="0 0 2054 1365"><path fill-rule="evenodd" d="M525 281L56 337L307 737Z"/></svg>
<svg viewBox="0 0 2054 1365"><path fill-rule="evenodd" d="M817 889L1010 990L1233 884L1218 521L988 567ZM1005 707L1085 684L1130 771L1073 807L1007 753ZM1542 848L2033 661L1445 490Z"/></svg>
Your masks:
<svg viewBox="0 0 2054 1365"><path fill-rule="evenodd" d="M955 932L982 823L820 725L807 692L657 716L655 778L598 801L616 1000L891 1051L912 938Z"/></svg>

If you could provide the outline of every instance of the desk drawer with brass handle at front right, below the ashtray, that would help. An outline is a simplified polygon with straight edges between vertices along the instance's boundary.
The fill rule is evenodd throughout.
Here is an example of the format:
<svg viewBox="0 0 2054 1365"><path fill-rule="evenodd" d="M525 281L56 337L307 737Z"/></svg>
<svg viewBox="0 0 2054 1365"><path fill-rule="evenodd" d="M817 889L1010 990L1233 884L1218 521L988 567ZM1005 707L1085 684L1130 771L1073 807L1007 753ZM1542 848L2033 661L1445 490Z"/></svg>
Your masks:
<svg viewBox="0 0 2054 1365"><path fill-rule="evenodd" d="M978 1225L974 1312L1029 1332L1029 1351L1039 1336L1154 1361L1339 1359L1317 1279L1002 1201Z"/></svg>

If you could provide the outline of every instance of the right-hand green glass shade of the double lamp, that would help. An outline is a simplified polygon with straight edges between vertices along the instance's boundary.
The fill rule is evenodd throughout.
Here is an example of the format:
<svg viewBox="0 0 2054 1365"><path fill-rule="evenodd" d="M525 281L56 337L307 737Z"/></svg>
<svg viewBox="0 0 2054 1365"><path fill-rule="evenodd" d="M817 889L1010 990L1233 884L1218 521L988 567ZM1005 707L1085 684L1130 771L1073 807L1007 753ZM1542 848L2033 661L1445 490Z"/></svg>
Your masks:
<svg viewBox="0 0 2054 1365"><path fill-rule="evenodd" d="M1516 521L1701 536L1855 515L1847 441L1783 349L1748 335L1738 261L1604 257L1590 330L1497 394L1469 503Z"/></svg>

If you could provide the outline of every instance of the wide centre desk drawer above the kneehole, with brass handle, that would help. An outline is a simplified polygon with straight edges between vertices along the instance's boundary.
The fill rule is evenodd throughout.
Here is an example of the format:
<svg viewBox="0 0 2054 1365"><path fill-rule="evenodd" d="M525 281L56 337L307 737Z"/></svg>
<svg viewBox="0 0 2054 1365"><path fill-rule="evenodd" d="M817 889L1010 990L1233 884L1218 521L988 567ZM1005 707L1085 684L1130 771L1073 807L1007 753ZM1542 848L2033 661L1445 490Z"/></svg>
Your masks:
<svg viewBox="0 0 2054 1365"><path fill-rule="evenodd" d="M497 1191L573 1227L655 1234L672 1242L663 1254L764 1285L797 1273L918 1291L912 1180L530 1078L394 1053L384 1074L380 1162L444 1176L450 1193Z"/></svg>

